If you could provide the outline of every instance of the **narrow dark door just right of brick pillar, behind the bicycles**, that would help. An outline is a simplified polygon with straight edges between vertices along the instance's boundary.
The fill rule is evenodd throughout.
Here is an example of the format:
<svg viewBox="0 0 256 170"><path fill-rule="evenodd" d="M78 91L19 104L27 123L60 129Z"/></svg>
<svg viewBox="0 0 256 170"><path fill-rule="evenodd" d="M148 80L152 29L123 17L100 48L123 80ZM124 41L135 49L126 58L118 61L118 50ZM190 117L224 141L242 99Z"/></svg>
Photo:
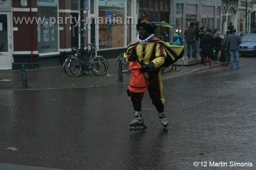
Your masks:
<svg viewBox="0 0 256 170"><path fill-rule="evenodd" d="M78 21L78 13L71 13L72 15L72 24L71 24L71 47L78 47L78 27L79 24L76 23ZM76 20L74 19L76 18ZM76 26L77 25L77 26Z"/></svg>

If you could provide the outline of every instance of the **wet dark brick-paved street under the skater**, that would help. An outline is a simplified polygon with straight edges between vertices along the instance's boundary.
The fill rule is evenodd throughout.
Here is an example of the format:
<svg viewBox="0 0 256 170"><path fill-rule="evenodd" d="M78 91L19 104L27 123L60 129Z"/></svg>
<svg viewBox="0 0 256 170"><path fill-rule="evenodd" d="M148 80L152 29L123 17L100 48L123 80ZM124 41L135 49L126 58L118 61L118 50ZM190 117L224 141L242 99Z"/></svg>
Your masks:
<svg viewBox="0 0 256 170"><path fill-rule="evenodd" d="M219 66L164 79L168 132L147 92L148 128L129 131L133 107L125 83L0 90L0 169L5 163L20 169L256 169L256 59L240 62L240 69ZM227 166L210 167L213 162Z"/></svg>

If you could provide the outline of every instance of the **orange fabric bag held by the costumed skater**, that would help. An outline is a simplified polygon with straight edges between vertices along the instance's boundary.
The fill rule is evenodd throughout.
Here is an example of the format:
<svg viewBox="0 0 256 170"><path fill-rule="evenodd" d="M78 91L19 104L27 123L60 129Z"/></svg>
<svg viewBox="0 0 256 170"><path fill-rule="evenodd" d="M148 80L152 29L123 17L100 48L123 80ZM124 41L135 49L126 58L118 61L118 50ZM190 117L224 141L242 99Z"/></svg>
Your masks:
<svg viewBox="0 0 256 170"><path fill-rule="evenodd" d="M132 92L146 92L148 87L148 81L144 76L144 73L140 72L141 65L138 61L131 61L129 63L131 71L130 84L128 89Z"/></svg>

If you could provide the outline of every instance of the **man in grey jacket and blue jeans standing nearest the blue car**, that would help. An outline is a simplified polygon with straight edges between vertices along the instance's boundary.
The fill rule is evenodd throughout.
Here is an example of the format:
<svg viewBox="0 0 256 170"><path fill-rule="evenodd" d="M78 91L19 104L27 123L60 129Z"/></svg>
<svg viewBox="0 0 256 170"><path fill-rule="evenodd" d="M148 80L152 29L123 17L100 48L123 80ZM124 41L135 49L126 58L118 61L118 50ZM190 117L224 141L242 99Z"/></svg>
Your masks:
<svg viewBox="0 0 256 170"><path fill-rule="evenodd" d="M233 34L227 38L227 49L230 50L230 68L234 67L234 56L236 56L236 67L239 67L239 45L242 43L241 36L236 34L236 28L232 29Z"/></svg>

